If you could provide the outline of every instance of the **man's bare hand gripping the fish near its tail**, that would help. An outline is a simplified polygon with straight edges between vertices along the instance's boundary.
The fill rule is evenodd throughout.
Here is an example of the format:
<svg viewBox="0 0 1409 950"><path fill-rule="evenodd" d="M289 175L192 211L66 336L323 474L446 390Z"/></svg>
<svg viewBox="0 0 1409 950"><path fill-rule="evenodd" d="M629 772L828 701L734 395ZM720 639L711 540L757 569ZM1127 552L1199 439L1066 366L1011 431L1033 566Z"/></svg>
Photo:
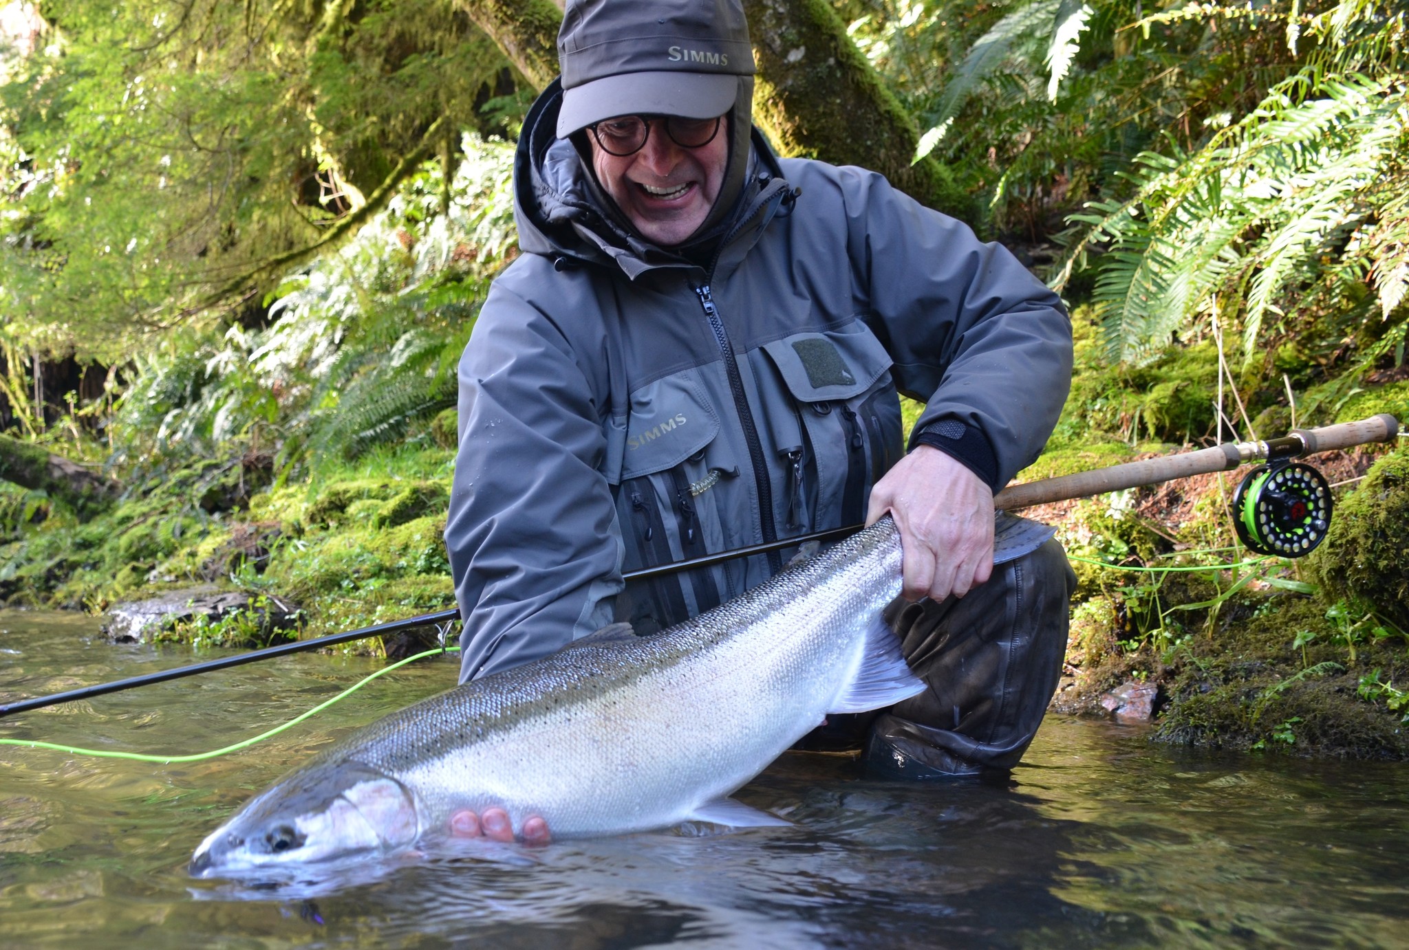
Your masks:
<svg viewBox="0 0 1409 950"><path fill-rule="evenodd" d="M886 511L905 550L902 595L964 597L993 573L993 491L961 462L921 445L871 490L867 524Z"/></svg>

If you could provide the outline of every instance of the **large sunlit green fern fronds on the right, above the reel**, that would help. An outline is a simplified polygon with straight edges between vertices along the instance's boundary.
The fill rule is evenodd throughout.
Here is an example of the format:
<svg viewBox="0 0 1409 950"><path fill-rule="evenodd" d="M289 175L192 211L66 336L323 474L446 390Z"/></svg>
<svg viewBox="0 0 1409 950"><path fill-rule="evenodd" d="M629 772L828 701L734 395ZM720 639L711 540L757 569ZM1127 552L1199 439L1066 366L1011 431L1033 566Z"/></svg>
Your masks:
<svg viewBox="0 0 1409 950"><path fill-rule="evenodd" d="M1409 227L1367 232L1365 225L1403 221L1405 83L1394 70L1368 76L1322 66L1277 84L1192 153L1140 155L1126 175L1130 198L1072 215L1084 229L1069 235L1054 283L1064 286L1093 249L1105 251L1095 298L1113 357L1148 357L1171 334L1226 310L1220 298L1231 300L1241 319L1246 359L1258 350L1270 315L1285 324L1309 311L1308 303L1323 303L1298 289L1372 279L1382 314L1399 307L1409 277L1399 249ZM1388 251L1386 263L1367 255L1370 246Z"/></svg>

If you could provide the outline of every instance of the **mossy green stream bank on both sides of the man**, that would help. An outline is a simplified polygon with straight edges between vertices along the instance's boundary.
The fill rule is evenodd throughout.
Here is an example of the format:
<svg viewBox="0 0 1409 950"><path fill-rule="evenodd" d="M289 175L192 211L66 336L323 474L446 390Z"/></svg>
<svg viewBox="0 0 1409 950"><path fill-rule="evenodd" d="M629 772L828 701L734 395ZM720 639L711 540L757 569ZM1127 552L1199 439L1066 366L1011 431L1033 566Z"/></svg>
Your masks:
<svg viewBox="0 0 1409 950"><path fill-rule="evenodd" d="M1074 324L1071 398L1019 480L1198 448L1191 433L1212 428L1212 345L1112 366L1091 314L1078 308ZM1298 422L1409 418L1403 376L1310 384ZM1247 394L1262 433L1291 428L1275 397L1271 387ZM906 405L909 421L917 410ZM99 614L196 588L214 600L128 632L196 649L452 607L441 532L455 411L402 425L397 439L294 469L280 469L256 428L214 443L216 457L169 455L128 474L114 504L82 518L61 498L0 483L0 600ZM1312 462L1336 486L1337 512L1329 539L1301 562L1248 563L1229 518L1240 473L1024 511L1058 528L1079 578L1053 709L1150 719L1155 740L1178 745L1409 759L1409 449ZM1243 566L1216 567L1230 563ZM434 636L426 628L340 650L400 657Z"/></svg>

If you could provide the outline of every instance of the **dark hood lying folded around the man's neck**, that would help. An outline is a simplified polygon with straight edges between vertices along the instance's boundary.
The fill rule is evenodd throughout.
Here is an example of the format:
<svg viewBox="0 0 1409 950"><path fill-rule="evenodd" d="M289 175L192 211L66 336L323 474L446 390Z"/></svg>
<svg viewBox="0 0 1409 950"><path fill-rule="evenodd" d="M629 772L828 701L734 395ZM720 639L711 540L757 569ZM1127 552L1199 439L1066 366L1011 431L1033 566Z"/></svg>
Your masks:
<svg viewBox="0 0 1409 950"><path fill-rule="evenodd" d="M751 80L741 79L743 82ZM635 279L661 266L690 266L681 249L665 249L643 238L596 186L578 149L557 135L562 87L554 80L528 110L514 153L514 221L519 248L547 258L616 262ZM747 100L745 100L747 101ZM730 160L720 197L683 249L717 241L764 193L786 193L778 160L766 141L734 110Z"/></svg>

